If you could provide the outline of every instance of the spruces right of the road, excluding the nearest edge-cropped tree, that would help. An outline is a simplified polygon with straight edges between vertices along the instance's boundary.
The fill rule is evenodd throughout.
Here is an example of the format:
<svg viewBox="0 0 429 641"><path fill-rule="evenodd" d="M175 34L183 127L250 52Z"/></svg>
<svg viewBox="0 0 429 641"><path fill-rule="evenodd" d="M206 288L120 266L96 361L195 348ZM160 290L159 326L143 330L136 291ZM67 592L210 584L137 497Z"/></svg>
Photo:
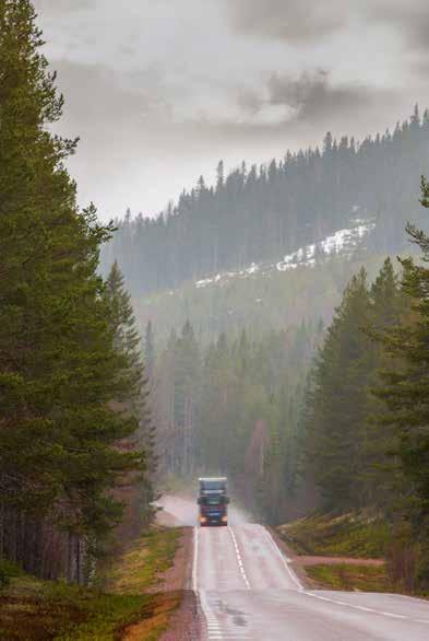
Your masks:
<svg viewBox="0 0 429 641"><path fill-rule="evenodd" d="M385 331L400 320L406 300L386 259L372 285L364 269L345 290L315 358L306 391L305 468L331 510L356 510L385 500L373 465L386 454L386 434L372 419L371 396L382 351L369 328Z"/></svg>

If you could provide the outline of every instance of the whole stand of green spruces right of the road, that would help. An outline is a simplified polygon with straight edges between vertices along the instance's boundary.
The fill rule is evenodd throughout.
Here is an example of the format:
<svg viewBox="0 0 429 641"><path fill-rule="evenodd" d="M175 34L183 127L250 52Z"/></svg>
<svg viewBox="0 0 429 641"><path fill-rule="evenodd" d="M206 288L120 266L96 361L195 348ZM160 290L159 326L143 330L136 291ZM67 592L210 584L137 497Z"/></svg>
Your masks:
<svg viewBox="0 0 429 641"><path fill-rule="evenodd" d="M429 237L407 232L421 260L401 259L397 277L388 259L372 285L362 270L345 291L307 386L300 452L320 505L383 514L409 585L427 588Z"/></svg>

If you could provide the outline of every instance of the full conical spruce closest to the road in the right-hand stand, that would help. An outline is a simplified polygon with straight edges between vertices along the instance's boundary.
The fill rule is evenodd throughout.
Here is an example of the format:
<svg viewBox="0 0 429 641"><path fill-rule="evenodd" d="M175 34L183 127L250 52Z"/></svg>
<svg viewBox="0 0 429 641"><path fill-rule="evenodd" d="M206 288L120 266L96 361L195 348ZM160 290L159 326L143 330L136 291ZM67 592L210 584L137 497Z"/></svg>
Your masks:
<svg viewBox="0 0 429 641"><path fill-rule="evenodd" d="M366 272L354 277L327 329L315 361L311 408L306 426L307 459L331 509L357 508L362 501L361 475L369 339Z"/></svg>

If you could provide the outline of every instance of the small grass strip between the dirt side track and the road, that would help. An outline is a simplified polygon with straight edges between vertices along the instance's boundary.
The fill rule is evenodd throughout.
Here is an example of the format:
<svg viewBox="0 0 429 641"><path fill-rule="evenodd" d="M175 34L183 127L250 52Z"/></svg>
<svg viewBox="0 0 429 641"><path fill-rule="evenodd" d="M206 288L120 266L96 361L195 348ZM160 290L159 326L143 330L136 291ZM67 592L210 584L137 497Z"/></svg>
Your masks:
<svg viewBox="0 0 429 641"><path fill-rule="evenodd" d="M309 566L306 573L318 586L330 590L360 592L393 592L385 567L350 566Z"/></svg>

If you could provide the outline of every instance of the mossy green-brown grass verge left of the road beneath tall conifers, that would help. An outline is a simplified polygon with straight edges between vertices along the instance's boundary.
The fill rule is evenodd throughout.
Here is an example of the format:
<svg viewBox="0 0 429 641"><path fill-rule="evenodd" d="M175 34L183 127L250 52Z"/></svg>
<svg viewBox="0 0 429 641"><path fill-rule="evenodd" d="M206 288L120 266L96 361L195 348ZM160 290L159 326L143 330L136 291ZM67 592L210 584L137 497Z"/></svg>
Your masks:
<svg viewBox="0 0 429 641"><path fill-rule="evenodd" d="M0 592L1 641L117 641L132 623L156 641L180 593L150 594L171 566L180 531L151 532L114 564L108 592L23 575Z"/></svg>

